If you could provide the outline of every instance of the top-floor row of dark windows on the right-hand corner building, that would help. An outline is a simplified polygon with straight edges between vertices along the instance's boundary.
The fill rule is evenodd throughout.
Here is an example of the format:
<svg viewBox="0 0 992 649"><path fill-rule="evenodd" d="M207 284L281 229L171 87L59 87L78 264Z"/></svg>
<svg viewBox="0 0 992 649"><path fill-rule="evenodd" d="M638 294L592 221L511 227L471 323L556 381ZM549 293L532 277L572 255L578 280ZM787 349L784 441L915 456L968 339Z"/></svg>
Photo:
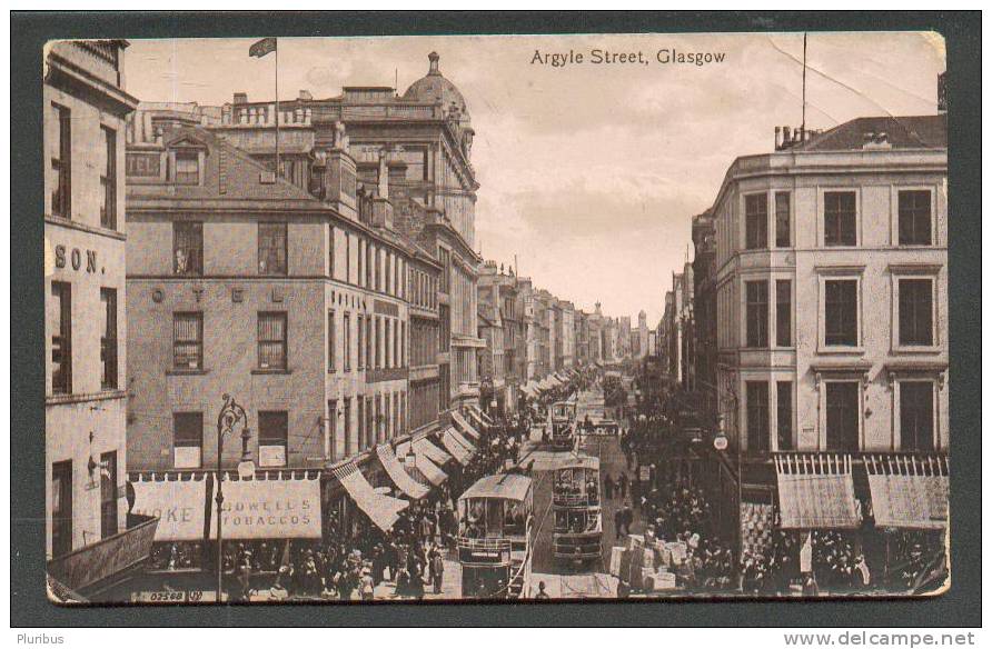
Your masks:
<svg viewBox="0 0 992 649"><path fill-rule="evenodd" d="M932 196L929 189L910 189L897 192L899 244L933 244ZM761 250L771 248L768 241L768 193L751 193L744 197L744 248ZM791 224L792 194L774 192L774 247L794 246ZM823 192L823 244L857 246L857 193L854 191Z"/></svg>

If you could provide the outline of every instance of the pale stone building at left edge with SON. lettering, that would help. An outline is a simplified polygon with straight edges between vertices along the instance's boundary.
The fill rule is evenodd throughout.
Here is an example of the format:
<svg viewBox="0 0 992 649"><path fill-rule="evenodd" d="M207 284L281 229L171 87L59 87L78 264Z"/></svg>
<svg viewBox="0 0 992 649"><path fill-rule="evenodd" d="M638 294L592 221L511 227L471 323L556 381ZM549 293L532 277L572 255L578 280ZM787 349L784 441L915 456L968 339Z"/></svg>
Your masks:
<svg viewBox="0 0 992 649"><path fill-rule="evenodd" d="M112 542L127 528L120 486L129 459L130 381L120 162L125 120L138 104L125 90L127 46L53 42L43 61L44 551L57 562ZM123 550L118 559L140 560ZM80 552L73 560L88 557ZM105 559L85 572L109 578L126 567ZM50 572L56 568L50 565Z"/></svg>

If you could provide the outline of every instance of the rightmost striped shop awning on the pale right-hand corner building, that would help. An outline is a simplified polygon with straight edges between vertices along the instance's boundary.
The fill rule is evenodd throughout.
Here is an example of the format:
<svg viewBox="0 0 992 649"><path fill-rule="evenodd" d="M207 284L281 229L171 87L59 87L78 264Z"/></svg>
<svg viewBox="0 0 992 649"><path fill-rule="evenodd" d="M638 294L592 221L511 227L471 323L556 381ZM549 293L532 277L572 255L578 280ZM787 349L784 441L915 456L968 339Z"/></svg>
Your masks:
<svg viewBox="0 0 992 649"><path fill-rule="evenodd" d="M946 457L869 456L864 468L876 527L939 530L948 526Z"/></svg>

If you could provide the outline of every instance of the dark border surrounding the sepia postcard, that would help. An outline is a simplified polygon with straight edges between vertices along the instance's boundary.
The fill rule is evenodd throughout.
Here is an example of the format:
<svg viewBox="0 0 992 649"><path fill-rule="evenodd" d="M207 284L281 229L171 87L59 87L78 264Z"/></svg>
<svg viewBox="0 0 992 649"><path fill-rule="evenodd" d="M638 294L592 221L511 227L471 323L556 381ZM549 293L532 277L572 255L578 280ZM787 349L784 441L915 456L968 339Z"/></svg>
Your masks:
<svg viewBox="0 0 992 649"><path fill-rule="evenodd" d="M262 33L262 30L266 30ZM925 599L59 607L44 589L41 48L57 38L933 30L950 104L950 590ZM148 626L981 626L981 12L12 12L10 622ZM17 173L14 170L20 170ZM32 170L27 172L24 170ZM956 218L955 218L956 217ZM27 253L24 253L27 251ZM23 289L23 287L28 287ZM18 467L20 470L14 471Z"/></svg>

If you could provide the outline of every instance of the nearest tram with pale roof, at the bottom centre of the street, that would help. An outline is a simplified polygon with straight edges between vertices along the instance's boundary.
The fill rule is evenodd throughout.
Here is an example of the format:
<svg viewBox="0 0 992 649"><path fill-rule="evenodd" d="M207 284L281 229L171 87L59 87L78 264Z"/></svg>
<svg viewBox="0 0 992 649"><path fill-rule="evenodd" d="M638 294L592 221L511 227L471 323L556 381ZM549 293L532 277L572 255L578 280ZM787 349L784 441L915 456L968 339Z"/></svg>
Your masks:
<svg viewBox="0 0 992 649"><path fill-rule="evenodd" d="M534 527L530 478L480 478L458 499L462 596L526 597Z"/></svg>

